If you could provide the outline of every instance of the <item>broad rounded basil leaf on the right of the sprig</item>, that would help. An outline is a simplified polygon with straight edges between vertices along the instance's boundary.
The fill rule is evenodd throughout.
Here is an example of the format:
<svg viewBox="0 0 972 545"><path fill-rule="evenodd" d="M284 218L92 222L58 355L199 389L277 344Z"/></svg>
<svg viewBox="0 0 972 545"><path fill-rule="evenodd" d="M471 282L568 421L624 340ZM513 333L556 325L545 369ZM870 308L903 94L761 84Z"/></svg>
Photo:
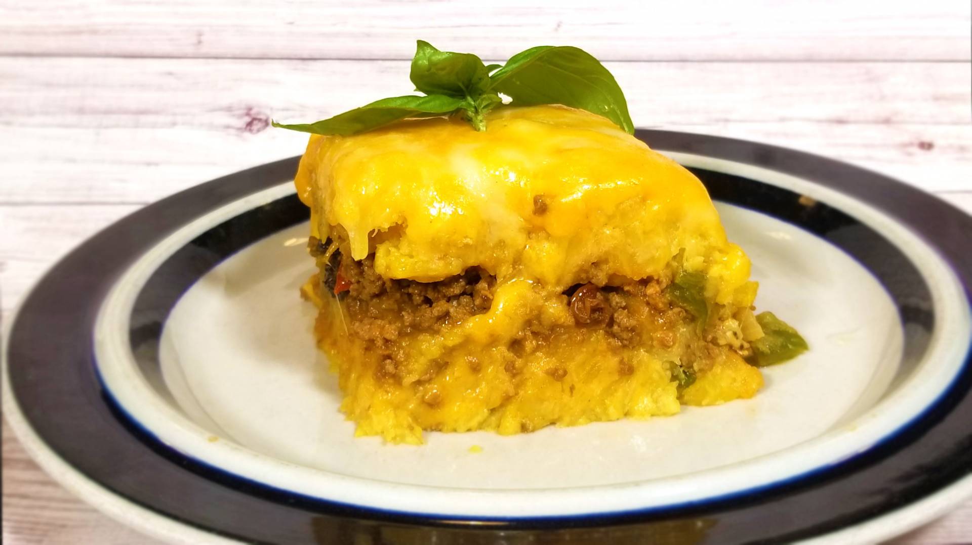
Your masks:
<svg viewBox="0 0 972 545"><path fill-rule="evenodd" d="M553 46L522 51L490 81L490 88L508 95L514 105L563 104L604 116L629 134L635 132L621 87L586 51Z"/></svg>

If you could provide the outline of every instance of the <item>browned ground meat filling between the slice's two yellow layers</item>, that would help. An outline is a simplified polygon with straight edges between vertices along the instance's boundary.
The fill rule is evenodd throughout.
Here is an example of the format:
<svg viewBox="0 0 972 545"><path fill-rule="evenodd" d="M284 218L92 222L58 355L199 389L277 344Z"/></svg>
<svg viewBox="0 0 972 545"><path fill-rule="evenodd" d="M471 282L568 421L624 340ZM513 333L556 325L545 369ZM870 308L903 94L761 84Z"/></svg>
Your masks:
<svg viewBox="0 0 972 545"><path fill-rule="evenodd" d="M487 312L492 305L496 278L483 269L470 268L438 282L387 279L374 270L372 255L356 261L345 257L350 251L345 246L314 237L308 244L320 269L320 290L342 301L350 319L350 334L381 356L379 372L383 375L398 374L404 361L399 338L458 324ZM664 351L677 344L679 326L692 320L691 314L668 296L667 284L664 279L651 278L622 286L578 284L564 296L577 327L603 328L619 346L648 342ZM645 324L650 324L648 330ZM528 324L512 341L509 352L518 358L531 354L551 333L541 324ZM680 358L680 371L692 376L708 368L716 345L726 344L711 333L693 337Z"/></svg>

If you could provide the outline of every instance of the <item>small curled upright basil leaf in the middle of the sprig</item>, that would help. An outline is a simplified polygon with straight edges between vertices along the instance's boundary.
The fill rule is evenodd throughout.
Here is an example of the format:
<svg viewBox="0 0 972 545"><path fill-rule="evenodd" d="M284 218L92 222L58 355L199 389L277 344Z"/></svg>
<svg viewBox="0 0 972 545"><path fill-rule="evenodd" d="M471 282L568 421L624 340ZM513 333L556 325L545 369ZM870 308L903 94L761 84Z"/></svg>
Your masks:
<svg viewBox="0 0 972 545"><path fill-rule="evenodd" d="M489 85L489 70L472 53L438 51L418 41L409 74L415 88L426 94L475 98Z"/></svg>

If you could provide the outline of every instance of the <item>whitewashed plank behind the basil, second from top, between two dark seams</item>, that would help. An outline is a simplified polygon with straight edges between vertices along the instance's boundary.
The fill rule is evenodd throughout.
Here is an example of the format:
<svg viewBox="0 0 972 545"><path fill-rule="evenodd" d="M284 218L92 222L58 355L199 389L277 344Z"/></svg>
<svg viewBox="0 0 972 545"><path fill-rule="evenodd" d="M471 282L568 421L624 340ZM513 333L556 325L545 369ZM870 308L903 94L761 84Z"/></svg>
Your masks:
<svg viewBox="0 0 972 545"><path fill-rule="evenodd" d="M609 66L642 126L972 189L968 63ZM322 119L407 90L406 75L402 61L0 58L0 125L16 135L0 162L21 181L0 185L0 203L156 200L300 153L306 137L268 119Z"/></svg>

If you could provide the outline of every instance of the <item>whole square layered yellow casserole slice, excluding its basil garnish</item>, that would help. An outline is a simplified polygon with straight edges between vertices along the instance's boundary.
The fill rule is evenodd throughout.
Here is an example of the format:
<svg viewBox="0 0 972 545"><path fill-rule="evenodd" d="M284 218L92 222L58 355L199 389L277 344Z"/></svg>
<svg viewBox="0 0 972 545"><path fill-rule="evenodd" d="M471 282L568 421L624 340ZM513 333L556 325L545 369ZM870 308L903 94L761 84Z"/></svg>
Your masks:
<svg viewBox="0 0 972 545"><path fill-rule="evenodd" d="M319 308L359 435L576 426L754 395L749 261L691 173L608 119L500 108L311 137Z"/></svg>

